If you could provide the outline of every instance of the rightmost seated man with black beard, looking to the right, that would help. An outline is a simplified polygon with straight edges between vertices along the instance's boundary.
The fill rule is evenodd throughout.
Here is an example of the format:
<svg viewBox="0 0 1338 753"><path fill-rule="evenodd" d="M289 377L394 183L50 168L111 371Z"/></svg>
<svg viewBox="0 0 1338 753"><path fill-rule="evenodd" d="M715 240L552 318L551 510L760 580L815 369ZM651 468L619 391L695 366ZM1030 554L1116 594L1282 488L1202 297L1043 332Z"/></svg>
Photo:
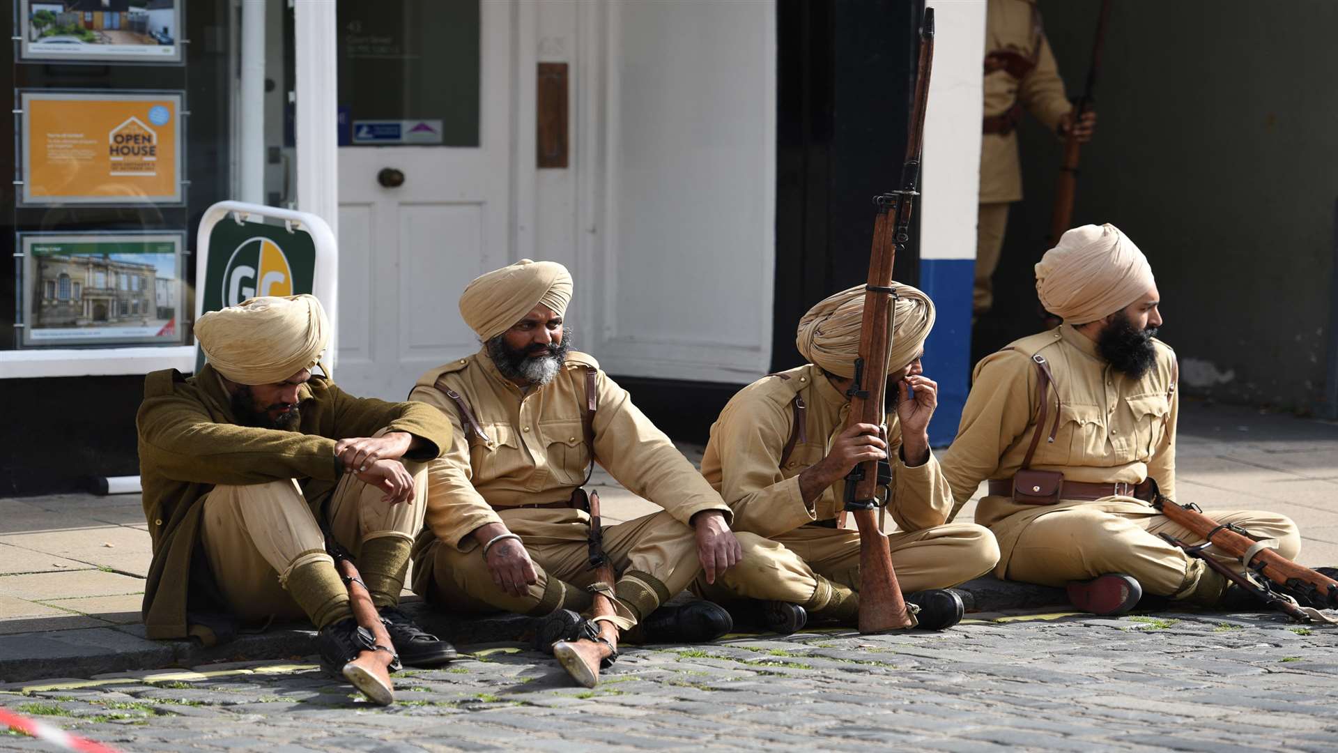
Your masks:
<svg viewBox="0 0 1338 753"><path fill-rule="evenodd" d="M1175 352L1153 338L1160 293L1148 260L1113 225L1084 225L1036 265L1036 289L1064 324L977 364L943 457L958 508L989 480L975 520L998 537L994 573L1066 584L1078 608L1100 615L1129 611L1144 591L1220 606L1226 577L1157 533L1202 540L1148 504L1149 480L1175 498L1180 405ZM1284 516L1206 515L1276 539L1284 557L1301 549Z"/></svg>

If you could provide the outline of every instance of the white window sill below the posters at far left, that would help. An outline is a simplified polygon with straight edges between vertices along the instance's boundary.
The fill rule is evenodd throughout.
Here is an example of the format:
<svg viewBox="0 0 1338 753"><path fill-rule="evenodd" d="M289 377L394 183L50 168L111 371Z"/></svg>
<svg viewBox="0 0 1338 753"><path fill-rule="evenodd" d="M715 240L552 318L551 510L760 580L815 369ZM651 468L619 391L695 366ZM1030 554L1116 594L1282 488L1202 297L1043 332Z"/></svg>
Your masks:
<svg viewBox="0 0 1338 753"><path fill-rule="evenodd" d="M161 368L194 371L195 346L0 351L0 379L110 376Z"/></svg>

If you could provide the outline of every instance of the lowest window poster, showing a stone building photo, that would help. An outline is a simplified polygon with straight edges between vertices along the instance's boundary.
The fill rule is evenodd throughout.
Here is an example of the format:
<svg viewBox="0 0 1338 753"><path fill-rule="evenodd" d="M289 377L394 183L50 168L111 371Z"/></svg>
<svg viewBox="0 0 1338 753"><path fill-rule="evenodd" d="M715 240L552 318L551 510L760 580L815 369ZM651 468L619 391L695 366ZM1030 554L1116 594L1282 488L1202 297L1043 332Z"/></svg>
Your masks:
<svg viewBox="0 0 1338 753"><path fill-rule="evenodd" d="M183 233L19 233L23 344L181 344Z"/></svg>

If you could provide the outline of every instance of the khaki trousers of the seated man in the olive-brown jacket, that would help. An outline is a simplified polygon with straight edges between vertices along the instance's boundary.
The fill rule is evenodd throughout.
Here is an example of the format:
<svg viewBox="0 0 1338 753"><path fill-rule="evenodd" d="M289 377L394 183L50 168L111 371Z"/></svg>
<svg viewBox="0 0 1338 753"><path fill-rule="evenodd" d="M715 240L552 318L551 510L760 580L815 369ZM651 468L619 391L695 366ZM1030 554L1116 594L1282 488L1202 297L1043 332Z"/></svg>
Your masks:
<svg viewBox="0 0 1338 753"><path fill-rule="evenodd" d="M427 464L404 462L413 498L388 505L384 492L345 473L325 505L334 540L356 557L364 541L395 536L411 544L427 509ZM284 588L288 573L309 561L334 560L297 480L214 486L205 497L201 543L231 612L245 620L305 619Z"/></svg>

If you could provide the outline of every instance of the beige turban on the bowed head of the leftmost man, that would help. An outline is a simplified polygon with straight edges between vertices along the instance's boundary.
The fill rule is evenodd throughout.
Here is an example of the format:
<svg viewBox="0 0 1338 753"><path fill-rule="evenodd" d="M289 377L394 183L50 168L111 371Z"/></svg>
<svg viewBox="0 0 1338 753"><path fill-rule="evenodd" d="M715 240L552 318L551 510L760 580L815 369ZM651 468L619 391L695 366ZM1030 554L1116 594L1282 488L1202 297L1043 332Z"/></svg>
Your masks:
<svg viewBox="0 0 1338 753"><path fill-rule="evenodd" d="M330 323L313 295L253 297L201 316L195 339L223 376L274 385L316 364Z"/></svg>

